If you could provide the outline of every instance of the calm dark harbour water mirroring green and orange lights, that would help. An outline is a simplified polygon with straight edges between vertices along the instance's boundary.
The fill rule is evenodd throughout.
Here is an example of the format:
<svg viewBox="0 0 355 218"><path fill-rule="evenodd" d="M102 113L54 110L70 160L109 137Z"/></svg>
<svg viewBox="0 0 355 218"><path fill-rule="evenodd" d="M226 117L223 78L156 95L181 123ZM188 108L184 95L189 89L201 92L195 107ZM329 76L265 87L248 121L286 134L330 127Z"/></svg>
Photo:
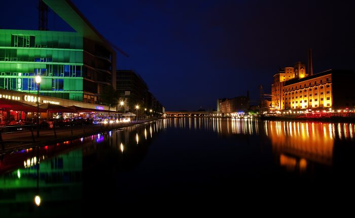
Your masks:
<svg viewBox="0 0 355 218"><path fill-rule="evenodd" d="M322 200L353 193L354 136L354 124L172 118L22 150L1 156L0 214Z"/></svg>

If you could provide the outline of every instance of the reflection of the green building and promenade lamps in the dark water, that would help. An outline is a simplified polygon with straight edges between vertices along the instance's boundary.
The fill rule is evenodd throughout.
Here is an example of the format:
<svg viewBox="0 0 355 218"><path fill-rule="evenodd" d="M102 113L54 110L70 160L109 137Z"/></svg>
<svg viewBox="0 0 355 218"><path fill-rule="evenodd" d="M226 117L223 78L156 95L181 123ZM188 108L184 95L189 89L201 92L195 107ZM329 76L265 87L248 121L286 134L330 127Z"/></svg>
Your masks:
<svg viewBox="0 0 355 218"><path fill-rule="evenodd" d="M83 201L97 204L98 197L111 193L106 187L115 180L113 172L139 164L164 126L163 121L152 122L1 155L2 215L81 215Z"/></svg>

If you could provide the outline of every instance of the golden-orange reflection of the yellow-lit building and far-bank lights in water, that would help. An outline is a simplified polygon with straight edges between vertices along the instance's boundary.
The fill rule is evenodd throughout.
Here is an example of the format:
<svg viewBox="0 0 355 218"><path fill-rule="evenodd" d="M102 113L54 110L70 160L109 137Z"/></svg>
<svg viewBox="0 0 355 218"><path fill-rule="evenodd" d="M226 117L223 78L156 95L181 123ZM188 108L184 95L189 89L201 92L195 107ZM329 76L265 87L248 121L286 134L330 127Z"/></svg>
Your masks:
<svg viewBox="0 0 355 218"><path fill-rule="evenodd" d="M304 172L309 162L333 165L335 141L354 141L354 124L258 121L253 119L174 118L167 119L168 127L211 131L221 136L233 134L259 135L271 141L276 162L290 171Z"/></svg>

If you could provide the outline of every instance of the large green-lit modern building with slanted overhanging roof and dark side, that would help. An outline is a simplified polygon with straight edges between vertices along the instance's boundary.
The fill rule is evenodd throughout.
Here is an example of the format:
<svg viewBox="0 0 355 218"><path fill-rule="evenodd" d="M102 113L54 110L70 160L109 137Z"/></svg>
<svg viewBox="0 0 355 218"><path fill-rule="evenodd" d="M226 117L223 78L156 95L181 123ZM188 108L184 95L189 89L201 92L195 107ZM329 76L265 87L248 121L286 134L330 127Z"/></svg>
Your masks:
<svg viewBox="0 0 355 218"><path fill-rule="evenodd" d="M0 89L37 93L41 76L41 95L100 103L114 50L70 1L44 2L77 32L0 29Z"/></svg>

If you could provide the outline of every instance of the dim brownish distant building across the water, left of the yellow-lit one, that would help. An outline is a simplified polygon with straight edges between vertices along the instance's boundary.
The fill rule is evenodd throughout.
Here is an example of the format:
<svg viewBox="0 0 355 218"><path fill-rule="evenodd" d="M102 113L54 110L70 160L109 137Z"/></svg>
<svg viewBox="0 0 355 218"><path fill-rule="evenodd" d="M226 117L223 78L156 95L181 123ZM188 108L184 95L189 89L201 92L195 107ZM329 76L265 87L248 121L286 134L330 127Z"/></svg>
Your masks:
<svg viewBox="0 0 355 218"><path fill-rule="evenodd" d="M217 112L224 114L245 112L250 106L249 96L238 96L235 98L218 99Z"/></svg>

